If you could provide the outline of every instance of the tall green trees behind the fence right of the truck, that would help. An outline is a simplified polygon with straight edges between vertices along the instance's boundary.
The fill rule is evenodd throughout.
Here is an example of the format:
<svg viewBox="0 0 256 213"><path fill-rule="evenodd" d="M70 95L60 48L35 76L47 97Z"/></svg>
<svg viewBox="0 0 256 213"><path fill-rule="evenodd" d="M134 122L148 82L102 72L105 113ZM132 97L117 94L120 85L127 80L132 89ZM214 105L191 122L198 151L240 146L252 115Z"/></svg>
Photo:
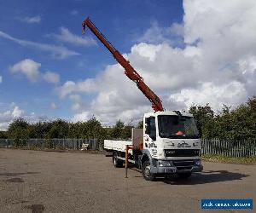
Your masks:
<svg viewBox="0 0 256 213"><path fill-rule="evenodd" d="M194 115L202 138L256 139L256 96L235 108L224 105L221 112L213 112L208 104L190 107L189 112Z"/></svg>

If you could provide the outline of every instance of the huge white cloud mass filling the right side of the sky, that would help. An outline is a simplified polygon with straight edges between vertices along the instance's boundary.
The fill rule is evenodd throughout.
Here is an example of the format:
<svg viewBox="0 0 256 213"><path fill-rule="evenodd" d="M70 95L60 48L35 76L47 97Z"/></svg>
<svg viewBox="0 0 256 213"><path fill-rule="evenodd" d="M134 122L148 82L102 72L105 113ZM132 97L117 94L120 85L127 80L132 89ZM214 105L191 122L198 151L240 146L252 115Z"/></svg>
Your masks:
<svg viewBox="0 0 256 213"><path fill-rule="evenodd" d="M183 35L183 48L166 40L166 28L153 24L143 35L147 43L131 47L127 58L144 82L160 96L166 110L188 109L192 104L236 106L256 91L256 2L184 1L183 24L169 27ZM171 33L171 34L172 34ZM67 81L57 89L69 95L73 106L80 95L87 105L73 107L76 118L95 115L103 124L119 118L143 117L150 103L119 65L107 66L95 78ZM83 96L85 95L85 96Z"/></svg>

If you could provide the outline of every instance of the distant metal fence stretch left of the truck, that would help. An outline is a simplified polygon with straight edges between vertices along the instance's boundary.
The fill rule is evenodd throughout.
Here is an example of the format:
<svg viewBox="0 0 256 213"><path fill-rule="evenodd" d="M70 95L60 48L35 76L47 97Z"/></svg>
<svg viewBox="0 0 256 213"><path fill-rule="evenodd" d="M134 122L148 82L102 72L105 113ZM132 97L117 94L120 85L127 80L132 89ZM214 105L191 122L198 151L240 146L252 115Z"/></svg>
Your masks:
<svg viewBox="0 0 256 213"><path fill-rule="evenodd" d="M27 149L74 149L79 150L82 145L88 145L90 150L102 149L102 144L96 139L26 139L14 141L12 139L0 139L0 147L24 147Z"/></svg>

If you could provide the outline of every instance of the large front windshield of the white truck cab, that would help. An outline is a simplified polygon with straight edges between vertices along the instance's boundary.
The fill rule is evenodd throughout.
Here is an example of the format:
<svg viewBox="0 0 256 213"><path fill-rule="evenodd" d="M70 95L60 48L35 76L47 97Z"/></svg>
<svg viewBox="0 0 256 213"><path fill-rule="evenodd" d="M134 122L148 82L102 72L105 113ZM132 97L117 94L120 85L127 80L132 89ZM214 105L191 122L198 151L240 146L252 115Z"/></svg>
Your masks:
<svg viewBox="0 0 256 213"><path fill-rule="evenodd" d="M199 138L195 119L187 116L159 115L158 126L160 137L166 138Z"/></svg>

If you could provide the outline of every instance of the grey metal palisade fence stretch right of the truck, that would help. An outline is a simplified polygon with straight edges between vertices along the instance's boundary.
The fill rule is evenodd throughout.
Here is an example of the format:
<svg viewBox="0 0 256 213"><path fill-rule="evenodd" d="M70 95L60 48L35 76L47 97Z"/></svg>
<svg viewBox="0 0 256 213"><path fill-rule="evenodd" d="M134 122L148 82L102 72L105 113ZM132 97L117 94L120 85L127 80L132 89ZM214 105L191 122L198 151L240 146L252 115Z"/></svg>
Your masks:
<svg viewBox="0 0 256 213"><path fill-rule="evenodd" d="M224 155L235 158L256 156L256 139L243 141L203 139L201 141L202 154Z"/></svg>

